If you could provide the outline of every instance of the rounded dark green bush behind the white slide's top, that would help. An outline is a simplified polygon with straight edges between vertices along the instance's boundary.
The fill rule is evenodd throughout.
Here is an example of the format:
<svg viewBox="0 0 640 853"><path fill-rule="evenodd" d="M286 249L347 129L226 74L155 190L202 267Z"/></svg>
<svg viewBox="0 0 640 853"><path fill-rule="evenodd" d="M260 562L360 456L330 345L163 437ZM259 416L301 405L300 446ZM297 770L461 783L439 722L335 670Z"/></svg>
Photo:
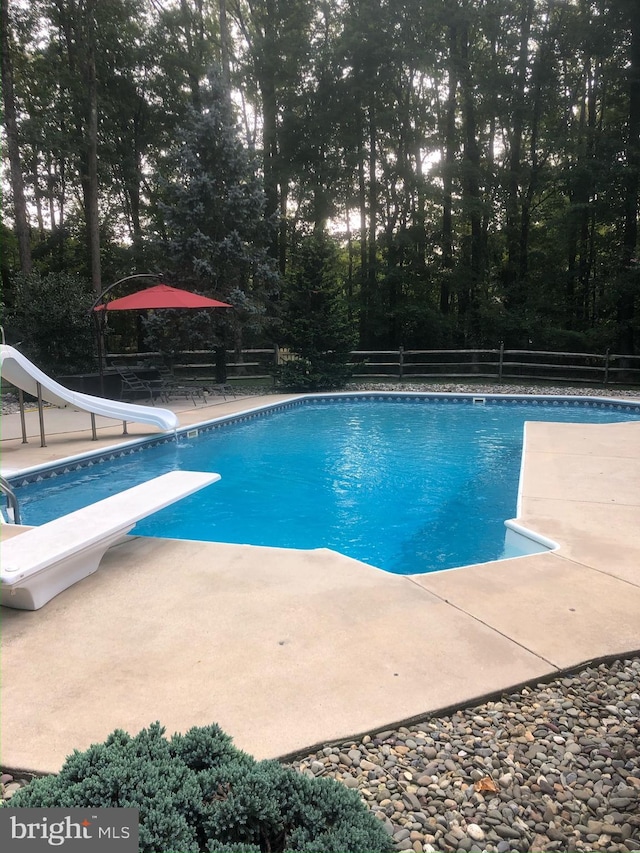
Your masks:
<svg viewBox="0 0 640 853"><path fill-rule="evenodd" d="M95 350L87 281L66 273L18 274L4 318L9 342L46 373L73 373L92 367Z"/></svg>

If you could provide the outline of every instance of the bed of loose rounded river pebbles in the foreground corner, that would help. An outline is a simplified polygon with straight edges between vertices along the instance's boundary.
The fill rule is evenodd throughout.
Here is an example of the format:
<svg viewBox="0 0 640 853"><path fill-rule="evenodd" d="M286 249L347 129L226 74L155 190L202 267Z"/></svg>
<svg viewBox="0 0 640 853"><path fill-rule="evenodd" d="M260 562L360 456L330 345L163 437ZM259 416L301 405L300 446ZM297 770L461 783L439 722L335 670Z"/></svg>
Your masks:
<svg viewBox="0 0 640 853"><path fill-rule="evenodd" d="M292 765L355 788L397 850L640 850L640 657L329 745Z"/></svg>

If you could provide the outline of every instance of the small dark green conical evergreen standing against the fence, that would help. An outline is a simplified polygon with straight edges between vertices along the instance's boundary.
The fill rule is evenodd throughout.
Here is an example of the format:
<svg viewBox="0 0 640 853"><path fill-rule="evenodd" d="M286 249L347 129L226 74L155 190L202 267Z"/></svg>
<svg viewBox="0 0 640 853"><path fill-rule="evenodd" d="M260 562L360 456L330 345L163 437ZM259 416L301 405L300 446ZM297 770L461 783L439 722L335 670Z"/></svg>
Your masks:
<svg viewBox="0 0 640 853"><path fill-rule="evenodd" d="M297 358L276 372L288 390L342 387L353 372L355 333L344 296L338 249L325 234L304 239L287 280L281 340Z"/></svg>

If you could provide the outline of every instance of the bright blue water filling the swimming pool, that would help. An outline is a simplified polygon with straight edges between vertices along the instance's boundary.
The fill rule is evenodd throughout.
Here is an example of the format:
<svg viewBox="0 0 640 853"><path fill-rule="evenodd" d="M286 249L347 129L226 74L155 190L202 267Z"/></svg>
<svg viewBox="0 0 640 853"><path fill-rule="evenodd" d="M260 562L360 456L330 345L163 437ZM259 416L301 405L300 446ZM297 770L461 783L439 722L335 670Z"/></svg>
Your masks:
<svg viewBox="0 0 640 853"><path fill-rule="evenodd" d="M220 482L136 534L326 547L389 572L430 572L501 556L526 420L635 419L640 409L573 401L311 402L17 491L24 523L41 524L166 471L217 471Z"/></svg>

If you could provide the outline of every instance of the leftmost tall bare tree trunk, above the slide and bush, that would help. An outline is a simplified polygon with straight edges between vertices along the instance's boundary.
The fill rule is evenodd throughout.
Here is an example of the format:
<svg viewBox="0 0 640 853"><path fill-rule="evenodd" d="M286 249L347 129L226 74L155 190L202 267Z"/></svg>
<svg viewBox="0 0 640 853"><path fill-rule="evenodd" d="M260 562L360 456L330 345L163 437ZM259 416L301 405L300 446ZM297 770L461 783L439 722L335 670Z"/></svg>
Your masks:
<svg viewBox="0 0 640 853"><path fill-rule="evenodd" d="M24 181L22 164L20 162L20 146L18 143L18 122L13 85L13 63L11 61L11 46L9 39L9 0L2 0L2 20L0 21L2 50L2 100L4 103L4 122L7 134L7 150L11 171L11 190L13 192L13 208L15 230L18 238L20 253L20 268L24 273L31 272L31 240L29 235L29 220L27 218L27 203L24 196Z"/></svg>

